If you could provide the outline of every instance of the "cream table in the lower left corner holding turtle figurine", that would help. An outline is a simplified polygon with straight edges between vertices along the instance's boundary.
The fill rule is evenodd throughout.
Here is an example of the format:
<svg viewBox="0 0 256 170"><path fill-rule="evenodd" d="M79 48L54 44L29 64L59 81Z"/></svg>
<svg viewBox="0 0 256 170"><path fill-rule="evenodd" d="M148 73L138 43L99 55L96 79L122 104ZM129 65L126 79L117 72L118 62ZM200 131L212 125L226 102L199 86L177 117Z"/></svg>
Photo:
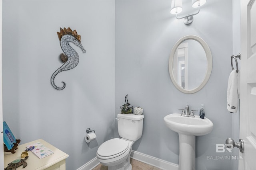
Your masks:
<svg viewBox="0 0 256 170"><path fill-rule="evenodd" d="M54 154L40 159L33 152L28 151L28 159L26 160L28 165L26 166L26 168L23 168L22 165L16 168L16 170L66 170L66 158L68 158L68 154L62 152L58 148L52 146L50 143L42 139L18 145L18 149L15 150L16 153L14 154L12 154L11 152L4 152L4 168L6 168L8 164L13 160L21 159L20 154L24 150L26 150L26 146L37 142L40 142L45 147L53 150Z"/></svg>

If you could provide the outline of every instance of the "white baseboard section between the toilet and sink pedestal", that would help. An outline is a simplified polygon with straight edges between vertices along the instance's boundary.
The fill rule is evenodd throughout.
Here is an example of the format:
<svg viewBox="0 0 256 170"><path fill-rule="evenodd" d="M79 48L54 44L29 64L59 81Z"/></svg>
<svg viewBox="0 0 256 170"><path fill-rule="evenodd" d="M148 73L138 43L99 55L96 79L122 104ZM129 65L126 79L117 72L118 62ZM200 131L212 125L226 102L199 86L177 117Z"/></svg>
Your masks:
<svg viewBox="0 0 256 170"><path fill-rule="evenodd" d="M132 150L130 158L155 166L162 170L178 170L179 165Z"/></svg>

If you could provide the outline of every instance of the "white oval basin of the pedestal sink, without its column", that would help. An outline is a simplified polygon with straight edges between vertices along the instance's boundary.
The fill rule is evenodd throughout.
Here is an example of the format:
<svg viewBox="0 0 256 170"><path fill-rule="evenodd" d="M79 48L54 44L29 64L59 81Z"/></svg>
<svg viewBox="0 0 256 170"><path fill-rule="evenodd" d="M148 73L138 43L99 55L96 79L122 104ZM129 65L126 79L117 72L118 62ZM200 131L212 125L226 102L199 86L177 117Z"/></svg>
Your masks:
<svg viewBox="0 0 256 170"><path fill-rule="evenodd" d="M172 113L164 117L164 122L169 129L184 135L206 135L213 128L212 121L206 117L201 119L198 115L195 115L195 117L185 117L180 116L180 113Z"/></svg>

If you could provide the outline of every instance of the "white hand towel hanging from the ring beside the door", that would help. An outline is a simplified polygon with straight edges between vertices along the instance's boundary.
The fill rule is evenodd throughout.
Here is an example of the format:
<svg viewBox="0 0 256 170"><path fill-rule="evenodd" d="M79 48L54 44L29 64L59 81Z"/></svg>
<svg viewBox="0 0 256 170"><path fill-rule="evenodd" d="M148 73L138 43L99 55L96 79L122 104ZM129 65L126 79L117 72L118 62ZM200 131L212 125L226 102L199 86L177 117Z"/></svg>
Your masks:
<svg viewBox="0 0 256 170"><path fill-rule="evenodd" d="M228 91L227 91L227 102L228 102L227 109L231 113L236 113L237 111L238 86L239 86L239 93L240 93L240 72L239 72L239 80L238 80L238 73L236 73L236 70L233 70L230 73L230 76L228 78Z"/></svg>

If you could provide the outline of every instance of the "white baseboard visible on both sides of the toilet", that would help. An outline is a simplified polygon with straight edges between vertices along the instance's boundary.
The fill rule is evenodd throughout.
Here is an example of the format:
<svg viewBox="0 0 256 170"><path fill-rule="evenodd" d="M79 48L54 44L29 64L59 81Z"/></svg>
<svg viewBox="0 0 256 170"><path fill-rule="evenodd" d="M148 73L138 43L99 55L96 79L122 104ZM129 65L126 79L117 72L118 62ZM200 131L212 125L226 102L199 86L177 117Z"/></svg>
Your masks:
<svg viewBox="0 0 256 170"><path fill-rule="evenodd" d="M155 166L156 168L160 168L162 170L178 170L179 168L177 164L167 162L165 160L158 159L156 157L143 154L134 150L132 150L130 158ZM97 157L95 157L77 170L92 170L93 168L98 166L98 164L100 164L100 162L97 160Z"/></svg>

